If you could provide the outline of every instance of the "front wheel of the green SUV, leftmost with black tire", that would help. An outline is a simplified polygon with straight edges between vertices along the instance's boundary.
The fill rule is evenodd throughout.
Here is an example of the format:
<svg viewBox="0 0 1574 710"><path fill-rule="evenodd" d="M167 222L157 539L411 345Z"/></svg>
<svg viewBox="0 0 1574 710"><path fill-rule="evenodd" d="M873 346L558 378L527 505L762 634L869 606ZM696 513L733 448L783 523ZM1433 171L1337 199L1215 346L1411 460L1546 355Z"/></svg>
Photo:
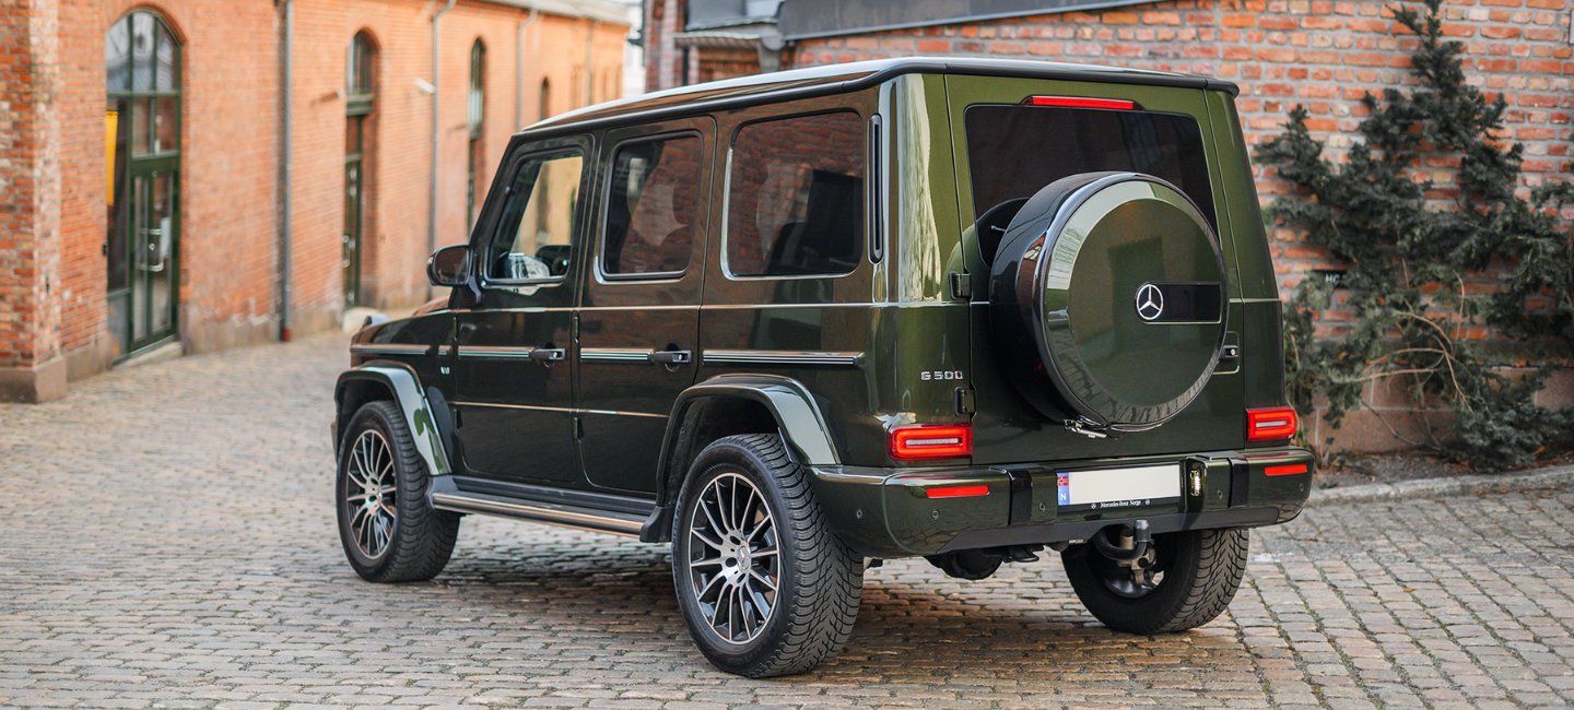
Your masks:
<svg viewBox="0 0 1574 710"><path fill-rule="evenodd" d="M379 444L386 444L386 452L375 452ZM382 455L389 458L384 461ZM360 477L360 471L371 471L376 479ZM378 493L367 494L370 488L357 480L371 480ZM392 491L386 490L389 485ZM356 411L338 447L334 486L338 540L356 575L371 582L411 582L442 571L460 534L460 513L433 508L427 499L430 485L427 464L398 406L370 401Z"/></svg>

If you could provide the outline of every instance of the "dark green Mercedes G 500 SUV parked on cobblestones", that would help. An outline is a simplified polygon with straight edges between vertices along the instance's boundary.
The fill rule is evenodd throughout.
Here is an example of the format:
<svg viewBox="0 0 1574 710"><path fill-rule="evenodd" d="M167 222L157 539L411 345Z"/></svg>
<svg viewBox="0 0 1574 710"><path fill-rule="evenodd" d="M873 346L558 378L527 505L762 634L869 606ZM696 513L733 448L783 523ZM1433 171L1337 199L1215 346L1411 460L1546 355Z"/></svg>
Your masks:
<svg viewBox="0 0 1574 710"><path fill-rule="evenodd" d="M449 296L351 345L351 565L428 579L464 513L671 543L751 677L834 656L894 557L1048 548L1111 628L1212 620L1313 474L1234 94L908 58L521 131Z"/></svg>

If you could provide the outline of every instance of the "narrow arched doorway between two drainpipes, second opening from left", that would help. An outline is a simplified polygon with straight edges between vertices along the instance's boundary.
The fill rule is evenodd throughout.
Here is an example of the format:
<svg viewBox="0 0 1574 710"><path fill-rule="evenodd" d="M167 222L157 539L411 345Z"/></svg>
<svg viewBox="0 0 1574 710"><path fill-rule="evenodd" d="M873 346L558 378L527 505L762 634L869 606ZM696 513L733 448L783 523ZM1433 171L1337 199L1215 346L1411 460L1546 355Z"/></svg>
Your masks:
<svg viewBox="0 0 1574 710"><path fill-rule="evenodd" d="M371 35L357 31L349 39L345 60L345 236L342 239L345 307L360 305L364 264L375 263L367 252L370 239L371 157L376 146L376 46Z"/></svg>

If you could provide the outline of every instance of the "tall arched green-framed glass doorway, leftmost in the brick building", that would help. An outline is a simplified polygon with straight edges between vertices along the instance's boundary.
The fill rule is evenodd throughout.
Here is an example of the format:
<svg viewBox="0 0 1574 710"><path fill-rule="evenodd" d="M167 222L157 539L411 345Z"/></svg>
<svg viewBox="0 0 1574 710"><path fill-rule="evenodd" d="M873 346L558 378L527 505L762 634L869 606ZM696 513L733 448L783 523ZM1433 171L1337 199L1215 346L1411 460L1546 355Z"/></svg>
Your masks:
<svg viewBox="0 0 1574 710"><path fill-rule="evenodd" d="M120 356L176 335L181 43L137 9L104 35L109 327Z"/></svg>

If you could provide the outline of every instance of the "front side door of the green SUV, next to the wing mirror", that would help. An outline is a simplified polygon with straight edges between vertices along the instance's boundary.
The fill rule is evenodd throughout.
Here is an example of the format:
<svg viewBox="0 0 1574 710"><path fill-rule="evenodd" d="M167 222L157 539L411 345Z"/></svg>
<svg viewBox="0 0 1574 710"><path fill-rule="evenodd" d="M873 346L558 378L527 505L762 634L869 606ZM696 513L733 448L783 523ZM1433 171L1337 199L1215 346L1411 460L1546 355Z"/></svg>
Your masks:
<svg viewBox="0 0 1574 710"><path fill-rule="evenodd" d="M467 474L578 482L573 307L592 140L532 143L472 238L478 302L455 310L455 433ZM494 187L497 189L497 187Z"/></svg>

